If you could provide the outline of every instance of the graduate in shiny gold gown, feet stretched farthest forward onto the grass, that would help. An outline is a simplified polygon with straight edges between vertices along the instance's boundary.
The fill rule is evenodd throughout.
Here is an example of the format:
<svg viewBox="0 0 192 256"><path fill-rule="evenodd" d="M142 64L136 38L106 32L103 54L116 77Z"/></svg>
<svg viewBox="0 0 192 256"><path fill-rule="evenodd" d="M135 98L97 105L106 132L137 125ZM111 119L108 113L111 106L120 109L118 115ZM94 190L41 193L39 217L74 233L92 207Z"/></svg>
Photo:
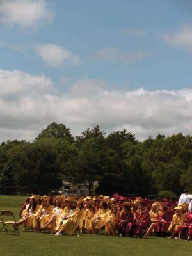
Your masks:
<svg viewBox="0 0 192 256"><path fill-rule="evenodd" d="M79 207L76 207L76 200L72 199L68 209L63 216L61 221L61 227L56 233L56 236L60 236L62 232L65 232L67 235L72 235L76 230L77 223L79 223L81 212Z"/></svg>

